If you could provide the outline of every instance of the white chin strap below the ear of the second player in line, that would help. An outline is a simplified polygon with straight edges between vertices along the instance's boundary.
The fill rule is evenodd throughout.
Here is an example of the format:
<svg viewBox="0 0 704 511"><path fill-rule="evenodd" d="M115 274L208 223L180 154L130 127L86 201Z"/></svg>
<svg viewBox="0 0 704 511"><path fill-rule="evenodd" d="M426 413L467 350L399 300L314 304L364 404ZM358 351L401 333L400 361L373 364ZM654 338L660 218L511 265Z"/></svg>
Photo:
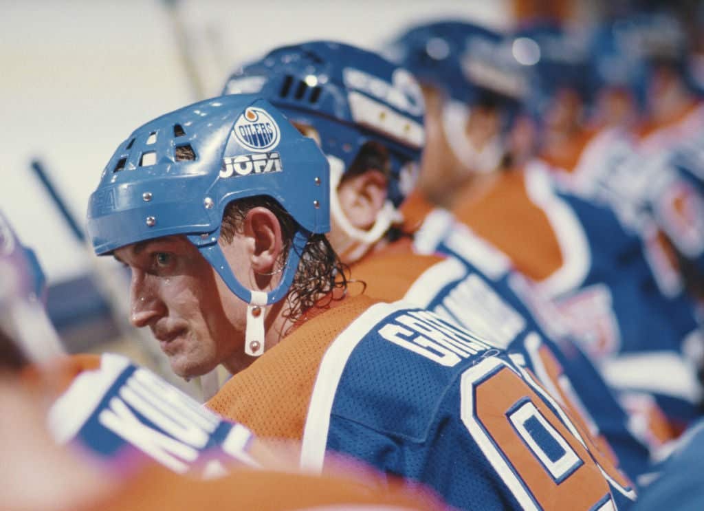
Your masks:
<svg viewBox="0 0 704 511"><path fill-rule="evenodd" d="M342 210L337 196L337 187L344 174L344 162L335 156L327 156L327 159L330 162L330 217L347 236L346 242L335 247L335 251L343 263L350 264L362 258L372 245L382 239L391 225L401 222L403 217L394 204L386 200L371 229L358 229L352 225Z"/></svg>

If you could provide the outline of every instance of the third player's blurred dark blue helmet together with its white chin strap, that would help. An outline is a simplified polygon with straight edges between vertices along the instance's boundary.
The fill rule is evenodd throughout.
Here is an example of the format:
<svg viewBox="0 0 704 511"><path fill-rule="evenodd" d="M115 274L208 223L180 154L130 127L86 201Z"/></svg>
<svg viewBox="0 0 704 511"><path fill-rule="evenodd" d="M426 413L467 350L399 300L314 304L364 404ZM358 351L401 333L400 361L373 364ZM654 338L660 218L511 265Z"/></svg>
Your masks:
<svg viewBox="0 0 704 511"><path fill-rule="evenodd" d="M444 135L465 168L458 172L496 170L505 156L505 135L527 92L526 75L511 55L505 35L472 23L436 21L403 32L387 54L444 96ZM499 120L496 134L479 144L466 133L477 108L491 111Z"/></svg>

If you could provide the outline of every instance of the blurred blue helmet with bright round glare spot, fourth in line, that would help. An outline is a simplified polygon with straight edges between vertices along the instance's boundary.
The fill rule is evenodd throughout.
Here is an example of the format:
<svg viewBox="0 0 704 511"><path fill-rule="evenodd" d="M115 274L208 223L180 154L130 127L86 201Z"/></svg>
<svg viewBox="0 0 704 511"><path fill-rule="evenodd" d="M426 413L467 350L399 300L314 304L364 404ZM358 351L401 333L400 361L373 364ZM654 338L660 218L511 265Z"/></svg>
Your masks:
<svg viewBox="0 0 704 511"><path fill-rule="evenodd" d="M530 93L524 101L528 113L542 118L562 89L577 93L585 104L591 101L589 61L582 34L563 30L550 21L536 22L514 32L511 51L529 72Z"/></svg>

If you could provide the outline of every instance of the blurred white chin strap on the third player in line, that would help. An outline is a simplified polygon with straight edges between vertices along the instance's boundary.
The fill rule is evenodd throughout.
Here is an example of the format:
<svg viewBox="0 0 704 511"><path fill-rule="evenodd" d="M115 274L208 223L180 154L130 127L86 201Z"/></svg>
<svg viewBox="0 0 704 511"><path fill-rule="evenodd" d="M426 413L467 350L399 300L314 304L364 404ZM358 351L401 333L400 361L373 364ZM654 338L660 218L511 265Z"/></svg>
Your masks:
<svg viewBox="0 0 704 511"><path fill-rule="evenodd" d="M460 163L472 172L488 174L498 168L503 151L501 138L497 134L481 150L467 139L467 120L471 115L470 108L460 101L446 101L442 110L442 125L445 138L450 149Z"/></svg>

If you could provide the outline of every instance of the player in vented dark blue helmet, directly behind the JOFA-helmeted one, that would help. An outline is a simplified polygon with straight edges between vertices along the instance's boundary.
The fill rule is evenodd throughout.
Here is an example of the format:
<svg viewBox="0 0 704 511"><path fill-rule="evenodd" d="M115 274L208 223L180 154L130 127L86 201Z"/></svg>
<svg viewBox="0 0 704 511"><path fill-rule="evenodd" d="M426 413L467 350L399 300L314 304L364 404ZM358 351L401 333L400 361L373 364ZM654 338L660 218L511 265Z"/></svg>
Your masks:
<svg viewBox="0 0 704 511"><path fill-rule="evenodd" d="M482 30L479 34L488 38L486 34L491 32ZM491 44L501 44L501 37L492 35L483 43L477 46L488 52ZM568 349L577 358L571 364L579 367L579 378L574 384L567 378L574 378L577 367L568 368L567 376L562 374L560 363L554 358L560 359L562 365L567 365L567 361L522 302L520 295L532 305L537 300L524 290L524 280L511 271L504 255L455 222L447 211L430 212L429 208L421 214L424 206L419 204L419 194L412 199L415 208L403 208L406 236L393 241L398 227L384 222L388 218L386 210L393 210L408 191L408 187L403 188L404 175L399 169L420 158L420 146L414 139L398 137L391 113L385 115L389 119L386 123L379 120L373 124L367 118L356 117L354 98L359 84L349 80L351 72L366 75L370 82L386 80L393 89L394 80L405 71L368 51L344 44L310 42L276 49L260 61L249 63L230 77L225 92L256 85L259 93L266 94L299 130L320 142L334 172L341 174L330 191L333 207L329 237L333 247L343 251L348 246L364 247L365 252L356 251L358 260L347 258L346 263L351 265L353 279L364 282L367 294L385 301L405 298L431 308L447 320L520 353L524 365L539 374L543 385L563 404L570 405L573 415L584 416L591 434L603 435L611 442L629 473L641 472L647 456L629 434L620 406L574 346ZM307 77L321 75L327 80L315 86L320 101L309 100L315 89L296 93L299 84L307 87ZM417 89L406 87L397 86L397 96L404 91L418 94ZM389 97L391 93L375 99L375 108L394 112L395 105L388 101ZM408 111L405 114L413 115ZM422 119L413 118L412 122L420 125ZM344 146L350 149L345 150ZM350 153L356 156L352 158ZM401 161L389 157L389 153ZM410 227L414 223L417 225ZM415 236L413 242L408 233ZM458 259L446 260L441 253ZM519 293L519 289L523 291ZM586 394L582 397L586 398L586 410L572 386L577 396ZM608 446L603 447L609 452Z"/></svg>

